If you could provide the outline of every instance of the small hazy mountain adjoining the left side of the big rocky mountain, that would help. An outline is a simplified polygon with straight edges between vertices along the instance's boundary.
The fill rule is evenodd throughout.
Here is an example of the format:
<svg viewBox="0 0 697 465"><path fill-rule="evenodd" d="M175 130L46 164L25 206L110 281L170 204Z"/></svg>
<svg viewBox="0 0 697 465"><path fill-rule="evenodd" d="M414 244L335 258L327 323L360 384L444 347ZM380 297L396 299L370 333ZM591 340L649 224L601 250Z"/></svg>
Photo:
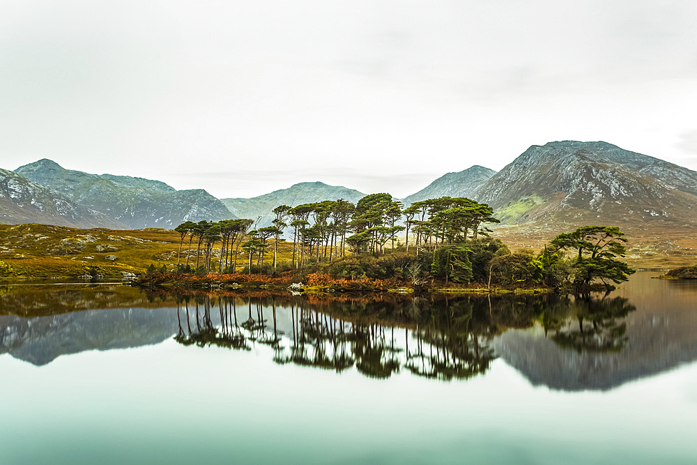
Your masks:
<svg viewBox="0 0 697 465"><path fill-rule="evenodd" d="M430 183L425 188L402 199L405 206L415 201L437 199L438 197L472 197L481 185L496 174L493 169L475 165L457 173L447 173Z"/></svg>

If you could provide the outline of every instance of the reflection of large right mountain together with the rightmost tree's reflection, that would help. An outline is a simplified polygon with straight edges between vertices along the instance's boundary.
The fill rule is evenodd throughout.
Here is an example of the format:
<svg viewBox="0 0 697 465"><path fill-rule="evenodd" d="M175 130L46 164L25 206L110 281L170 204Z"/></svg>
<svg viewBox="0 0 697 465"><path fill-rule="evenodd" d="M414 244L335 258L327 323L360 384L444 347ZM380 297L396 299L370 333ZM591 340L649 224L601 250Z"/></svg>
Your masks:
<svg viewBox="0 0 697 465"><path fill-rule="evenodd" d="M531 383L560 390L611 389L694 362L697 283L678 284L637 273L624 289L605 299L604 308L584 309L581 304L583 334L578 319L560 317L564 307L578 305L572 301L543 313L543 328L501 335L493 342L496 354Z"/></svg>

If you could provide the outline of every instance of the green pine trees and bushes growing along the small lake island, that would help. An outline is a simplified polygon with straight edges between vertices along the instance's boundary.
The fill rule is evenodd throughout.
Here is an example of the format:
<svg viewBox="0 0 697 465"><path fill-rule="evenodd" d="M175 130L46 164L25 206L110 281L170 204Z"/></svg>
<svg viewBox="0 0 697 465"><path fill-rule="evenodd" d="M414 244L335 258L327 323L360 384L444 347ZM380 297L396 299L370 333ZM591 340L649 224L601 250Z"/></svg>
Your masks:
<svg viewBox="0 0 697 465"><path fill-rule="evenodd" d="M617 227L580 227L556 236L539 254L512 252L489 236L485 225L498 222L492 208L466 197L427 199L404 208L381 193L356 204L339 199L280 205L273 214L269 227L256 227L259 219L180 224L177 272L234 273L241 266L242 273L275 275L311 268L337 278L396 278L415 285L437 280L556 289L580 289L598 280L609 287L634 273L618 259L625 256L627 239ZM278 245L284 234L292 235L292 253L281 262Z"/></svg>

